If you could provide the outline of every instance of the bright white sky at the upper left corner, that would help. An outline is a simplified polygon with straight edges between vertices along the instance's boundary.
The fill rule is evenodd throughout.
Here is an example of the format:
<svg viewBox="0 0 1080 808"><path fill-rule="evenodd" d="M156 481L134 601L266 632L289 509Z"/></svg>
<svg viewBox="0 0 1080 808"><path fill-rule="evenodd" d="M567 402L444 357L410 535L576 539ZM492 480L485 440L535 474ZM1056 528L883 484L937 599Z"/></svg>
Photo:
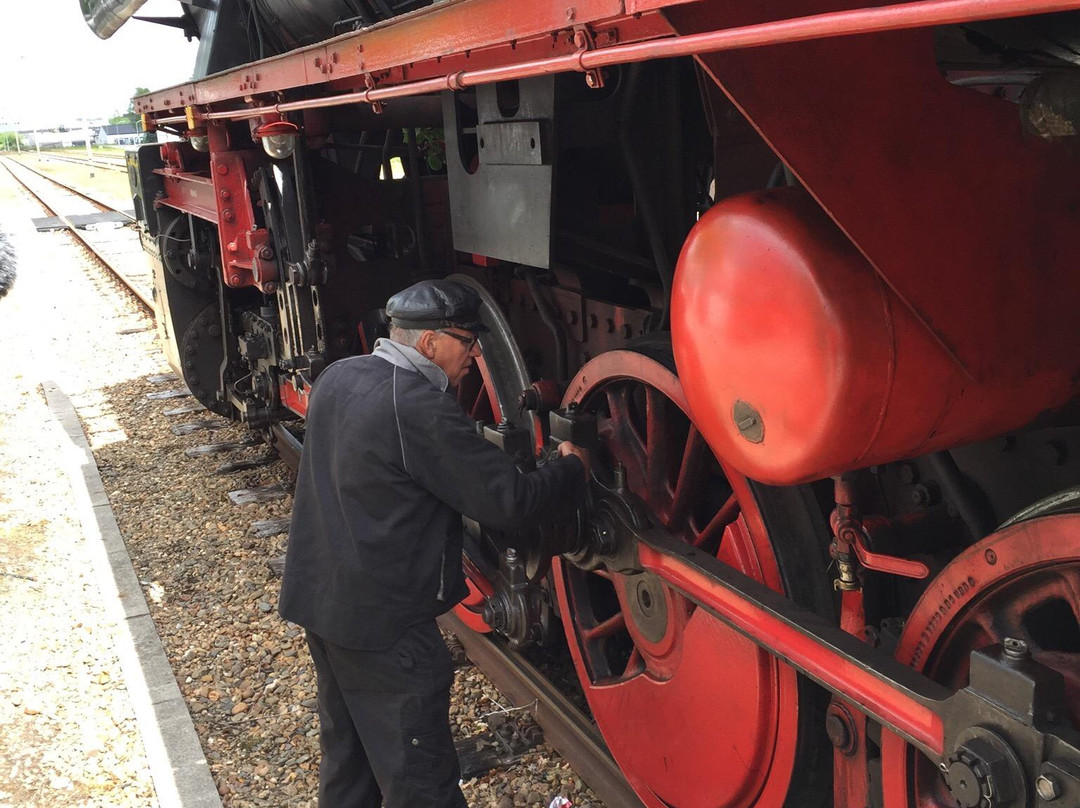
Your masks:
<svg viewBox="0 0 1080 808"><path fill-rule="evenodd" d="M0 3L0 121L49 127L124 112L135 87L159 90L191 78L198 40L138 19L110 39L86 27L79 0ZM137 12L177 16L176 0L148 0Z"/></svg>

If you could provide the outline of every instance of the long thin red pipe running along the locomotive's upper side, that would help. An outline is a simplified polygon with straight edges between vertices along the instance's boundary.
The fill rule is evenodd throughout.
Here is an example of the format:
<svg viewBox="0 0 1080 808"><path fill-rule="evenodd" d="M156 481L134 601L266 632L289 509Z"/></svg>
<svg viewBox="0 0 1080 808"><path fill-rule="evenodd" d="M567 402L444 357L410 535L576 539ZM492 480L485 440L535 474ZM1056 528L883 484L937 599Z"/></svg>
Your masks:
<svg viewBox="0 0 1080 808"><path fill-rule="evenodd" d="M393 86L369 87L322 98L283 102L259 107L198 112L195 118L208 121L243 120L268 113L323 109L350 104L375 104L390 98L460 91L477 84L512 79L527 79L561 72L588 72L602 67L647 62L658 58L692 56L746 48L789 44L814 39L850 37L866 33L926 28L937 25L974 23L1005 17L1029 16L1080 9L1080 0L916 0L887 6L825 12L805 17L759 23L681 37L669 37L648 42L611 45L597 50L581 50L565 56L553 56L503 67L460 70L446 76L423 79ZM159 123L185 123L187 118L174 116L156 119Z"/></svg>

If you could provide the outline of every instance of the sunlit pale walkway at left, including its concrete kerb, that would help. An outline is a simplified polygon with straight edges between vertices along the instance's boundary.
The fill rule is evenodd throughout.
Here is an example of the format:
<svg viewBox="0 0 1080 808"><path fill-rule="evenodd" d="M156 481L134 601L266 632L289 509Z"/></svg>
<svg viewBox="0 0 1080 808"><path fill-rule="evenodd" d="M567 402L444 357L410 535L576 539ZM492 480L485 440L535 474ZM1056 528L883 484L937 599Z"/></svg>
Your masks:
<svg viewBox="0 0 1080 808"><path fill-rule="evenodd" d="M0 212L18 252L0 299L0 806L220 808L68 395L93 416L118 372L160 369L152 333L121 344L121 296L32 232L8 176Z"/></svg>

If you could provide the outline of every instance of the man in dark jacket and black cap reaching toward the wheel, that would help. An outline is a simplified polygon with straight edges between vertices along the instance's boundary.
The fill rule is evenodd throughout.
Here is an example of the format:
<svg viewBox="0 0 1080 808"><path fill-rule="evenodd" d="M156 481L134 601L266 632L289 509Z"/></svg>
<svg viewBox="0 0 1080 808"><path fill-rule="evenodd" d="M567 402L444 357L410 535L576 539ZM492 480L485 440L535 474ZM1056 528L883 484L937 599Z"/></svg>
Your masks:
<svg viewBox="0 0 1080 808"><path fill-rule="evenodd" d="M588 476L569 444L519 473L448 392L480 354L480 306L454 281L410 286L387 305L391 338L312 389L280 611L319 678L320 808L465 806L435 624L465 595L461 516L521 527Z"/></svg>

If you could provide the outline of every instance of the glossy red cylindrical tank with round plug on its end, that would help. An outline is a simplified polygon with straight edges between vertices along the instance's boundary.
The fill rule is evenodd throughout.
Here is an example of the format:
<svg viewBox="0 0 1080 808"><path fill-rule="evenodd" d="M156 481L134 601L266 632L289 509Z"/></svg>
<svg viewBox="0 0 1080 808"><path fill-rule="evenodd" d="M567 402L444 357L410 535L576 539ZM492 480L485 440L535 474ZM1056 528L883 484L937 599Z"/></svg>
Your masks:
<svg viewBox="0 0 1080 808"><path fill-rule="evenodd" d="M962 291L947 289L962 288L943 294L960 307ZM694 225L675 274L672 341L710 446L774 485L1000 434L1077 387L1076 352L976 380L799 189L725 200Z"/></svg>

